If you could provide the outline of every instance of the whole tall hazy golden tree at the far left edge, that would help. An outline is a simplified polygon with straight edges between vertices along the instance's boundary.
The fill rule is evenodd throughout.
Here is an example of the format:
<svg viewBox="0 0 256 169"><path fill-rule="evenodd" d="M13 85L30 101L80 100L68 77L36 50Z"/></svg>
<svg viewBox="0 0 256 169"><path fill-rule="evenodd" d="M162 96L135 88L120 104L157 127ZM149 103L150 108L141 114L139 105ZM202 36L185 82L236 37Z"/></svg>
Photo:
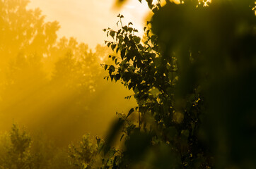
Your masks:
<svg viewBox="0 0 256 169"><path fill-rule="evenodd" d="M38 86L36 82L45 80L41 61L57 40L58 23L45 23L40 9L28 10L28 3L0 1L0 101L6 101L6 96L13 93L21 94L23 87ZM11 88L13 93L6 94Z"/></svg>

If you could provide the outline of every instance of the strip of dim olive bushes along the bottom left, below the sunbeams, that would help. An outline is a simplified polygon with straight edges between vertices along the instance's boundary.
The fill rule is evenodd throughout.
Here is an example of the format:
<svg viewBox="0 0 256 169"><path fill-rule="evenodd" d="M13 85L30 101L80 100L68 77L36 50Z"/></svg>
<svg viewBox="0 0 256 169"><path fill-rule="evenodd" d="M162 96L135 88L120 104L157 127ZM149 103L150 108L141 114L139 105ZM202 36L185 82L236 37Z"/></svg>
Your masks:
<svg viewBox="0 0 256 169"><path fill-rule="evenodd" d="M110 148L104 154L105 142L89 134L81 142L69 144L68 149L57 148L45 135L31 137L28 131L13 125L10 132L0 134L1 169L89 169L115 168L120 163L120 153Z"/></svg>

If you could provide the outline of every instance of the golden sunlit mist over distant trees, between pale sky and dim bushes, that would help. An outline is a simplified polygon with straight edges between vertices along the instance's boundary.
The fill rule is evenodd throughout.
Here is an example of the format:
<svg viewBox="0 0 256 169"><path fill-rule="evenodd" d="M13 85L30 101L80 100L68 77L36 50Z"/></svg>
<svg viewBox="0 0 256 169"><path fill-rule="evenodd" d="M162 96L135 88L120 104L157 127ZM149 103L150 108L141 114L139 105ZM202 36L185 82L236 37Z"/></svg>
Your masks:
<svg viewBox="0 0 256 169"><path fill-rule="evenodd" d="M103 137L115 113L136 104L120 82L103 79L100 64L112 51L58 37L60 24L27 6L0 1L0 132L17 123L59 146L86 133Z"/></svg>

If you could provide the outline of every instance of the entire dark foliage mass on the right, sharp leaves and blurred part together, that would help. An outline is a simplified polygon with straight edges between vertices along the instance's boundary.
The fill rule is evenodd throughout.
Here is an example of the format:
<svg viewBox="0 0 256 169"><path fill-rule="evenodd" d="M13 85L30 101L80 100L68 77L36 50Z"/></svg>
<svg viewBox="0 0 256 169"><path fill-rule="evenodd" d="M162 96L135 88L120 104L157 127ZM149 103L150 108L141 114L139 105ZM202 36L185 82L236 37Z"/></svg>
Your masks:
<svg viewBox="0 0 256 169"><path fill-rule="evenodd" d="M147 2L144 42L132 23L104 30L108 78L138 104L119 167L255 168L255 1Z"/></svg>

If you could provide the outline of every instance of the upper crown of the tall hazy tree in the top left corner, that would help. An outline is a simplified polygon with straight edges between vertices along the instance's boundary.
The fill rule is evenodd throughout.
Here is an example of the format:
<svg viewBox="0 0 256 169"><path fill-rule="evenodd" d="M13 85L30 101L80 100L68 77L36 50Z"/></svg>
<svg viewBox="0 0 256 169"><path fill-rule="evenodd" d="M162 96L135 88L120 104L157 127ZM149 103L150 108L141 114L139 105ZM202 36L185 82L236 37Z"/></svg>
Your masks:
<svg viewBox="0 0 256 169"><path fill-rule="evenodd" d="M28 10L29 1L0 2L0 58L1 66L10 58L23 54L48 54L57 39L59 25L56 21L45 23L39 8Z"/></svg>

